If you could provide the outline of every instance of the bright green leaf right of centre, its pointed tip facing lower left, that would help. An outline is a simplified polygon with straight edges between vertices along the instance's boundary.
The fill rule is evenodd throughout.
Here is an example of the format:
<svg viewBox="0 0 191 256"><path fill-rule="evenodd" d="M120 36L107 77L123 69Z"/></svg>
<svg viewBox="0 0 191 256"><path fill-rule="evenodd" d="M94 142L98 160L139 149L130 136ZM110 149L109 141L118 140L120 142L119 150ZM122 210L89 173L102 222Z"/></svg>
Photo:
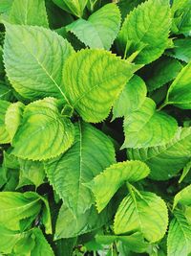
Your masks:
<svg viewBox="0 0 191 256"><path fill-rule="evenodd" d="M156 110L153 100L146 98L137 111L124 119L124 148L147 148L165 144L177 131L176 120Z"/></svg>

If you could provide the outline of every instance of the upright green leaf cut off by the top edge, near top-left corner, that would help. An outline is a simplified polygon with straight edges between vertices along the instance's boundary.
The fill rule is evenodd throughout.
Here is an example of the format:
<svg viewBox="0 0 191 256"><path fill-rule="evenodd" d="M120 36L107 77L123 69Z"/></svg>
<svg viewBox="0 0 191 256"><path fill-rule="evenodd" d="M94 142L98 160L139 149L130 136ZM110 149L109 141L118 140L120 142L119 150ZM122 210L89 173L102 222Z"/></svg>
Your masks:
<svg viewBox="0 0 191 256"><path fill-rule="evenodd" d="M36 14L37 13L37 14ZM49 27L44 0L14 0L9 21L20 25Z"/></svg>

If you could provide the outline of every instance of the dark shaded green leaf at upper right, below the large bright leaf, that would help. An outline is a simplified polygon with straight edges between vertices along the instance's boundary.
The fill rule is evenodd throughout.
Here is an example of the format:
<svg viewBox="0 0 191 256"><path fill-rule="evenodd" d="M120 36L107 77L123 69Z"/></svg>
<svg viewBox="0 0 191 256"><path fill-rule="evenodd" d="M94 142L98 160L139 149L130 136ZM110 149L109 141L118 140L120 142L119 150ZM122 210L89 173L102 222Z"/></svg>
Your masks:
<svg viewBox="0 0 191 256"><path fill-rule="evenodd" d="M174 80L179 74L182 65L180 61L173 58L159 58L149 69L149 78L146 84L149 91L154 91L163 84Z"/></svg>

